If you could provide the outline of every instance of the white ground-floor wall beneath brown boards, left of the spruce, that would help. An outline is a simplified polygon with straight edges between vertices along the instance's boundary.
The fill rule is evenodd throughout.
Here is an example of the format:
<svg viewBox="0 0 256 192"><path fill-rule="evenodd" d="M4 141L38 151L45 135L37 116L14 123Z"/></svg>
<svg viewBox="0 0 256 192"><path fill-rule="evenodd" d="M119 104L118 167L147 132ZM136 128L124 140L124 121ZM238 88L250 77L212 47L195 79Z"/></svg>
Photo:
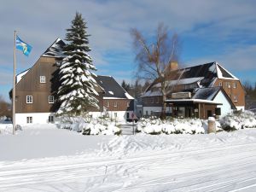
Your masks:
<svg viewBox="0 0 256 192"><path fill-rule="evenodd" d="M32 124L46 124L49 116L55 116L55 113L15 113L15 121L16 125L26 125L26 117L32 117Z"/></svg>

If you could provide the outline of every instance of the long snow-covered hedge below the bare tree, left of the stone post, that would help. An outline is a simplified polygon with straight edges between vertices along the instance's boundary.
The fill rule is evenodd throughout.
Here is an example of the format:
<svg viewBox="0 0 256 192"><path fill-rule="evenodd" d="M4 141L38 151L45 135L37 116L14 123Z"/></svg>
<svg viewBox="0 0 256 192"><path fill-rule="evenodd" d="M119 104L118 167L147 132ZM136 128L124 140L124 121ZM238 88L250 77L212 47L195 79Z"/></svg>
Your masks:
<svg viewBox="0 0 256 192"><path fill-rule="evenodd" d="M154 117L149 119L142 118L137 124L137 131L156 135L156 134L203 134L202 119L169 119L161 120Z"/></svg>

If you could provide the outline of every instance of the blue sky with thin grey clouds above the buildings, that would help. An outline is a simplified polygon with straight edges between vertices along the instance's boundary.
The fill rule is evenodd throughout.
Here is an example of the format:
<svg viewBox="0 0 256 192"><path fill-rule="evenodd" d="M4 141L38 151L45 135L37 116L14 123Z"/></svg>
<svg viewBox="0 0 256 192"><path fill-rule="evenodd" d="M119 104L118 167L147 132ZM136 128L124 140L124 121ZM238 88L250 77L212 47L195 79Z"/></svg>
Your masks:
<svg viewBox="0 0 256 192"><path fill-rule="evenodd" d="M87 21L97 74L132 82L135 53L131 27L152 38L164 22L182 41L183 67L218 61L241 82L256 82L256 1L253 0L44 0L1 3L0 95L12 87L14 31L31 44L17 52L17 73L32 67L56 38L65 38L76 11Z"/></svg>

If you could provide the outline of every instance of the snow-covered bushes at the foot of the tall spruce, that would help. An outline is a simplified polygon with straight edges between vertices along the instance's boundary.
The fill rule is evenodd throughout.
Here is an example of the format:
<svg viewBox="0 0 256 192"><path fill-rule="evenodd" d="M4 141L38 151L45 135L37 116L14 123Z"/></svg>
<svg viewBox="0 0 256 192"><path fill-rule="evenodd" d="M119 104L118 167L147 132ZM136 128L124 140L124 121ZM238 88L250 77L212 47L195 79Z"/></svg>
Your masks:
<svg viewBox="0 0 256 192"><path fill-rule="evenodd" d="M61 129L82 132L83 135L119 135L121 133L118 125L109 118L92 119L84 117L63 117Z"/></svg>

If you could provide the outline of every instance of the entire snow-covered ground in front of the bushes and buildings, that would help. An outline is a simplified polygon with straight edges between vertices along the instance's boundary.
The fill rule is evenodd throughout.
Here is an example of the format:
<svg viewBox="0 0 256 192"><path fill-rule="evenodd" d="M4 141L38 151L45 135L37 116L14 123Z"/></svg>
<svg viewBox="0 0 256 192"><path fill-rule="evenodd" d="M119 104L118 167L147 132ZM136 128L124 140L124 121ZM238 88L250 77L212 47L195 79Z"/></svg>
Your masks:
<svg viewBox="0 0 256 192"><path fill-rule="evenodd" d="M26 127L0 135L0 191L256 191L256 129L119 137Z"/></svg>

